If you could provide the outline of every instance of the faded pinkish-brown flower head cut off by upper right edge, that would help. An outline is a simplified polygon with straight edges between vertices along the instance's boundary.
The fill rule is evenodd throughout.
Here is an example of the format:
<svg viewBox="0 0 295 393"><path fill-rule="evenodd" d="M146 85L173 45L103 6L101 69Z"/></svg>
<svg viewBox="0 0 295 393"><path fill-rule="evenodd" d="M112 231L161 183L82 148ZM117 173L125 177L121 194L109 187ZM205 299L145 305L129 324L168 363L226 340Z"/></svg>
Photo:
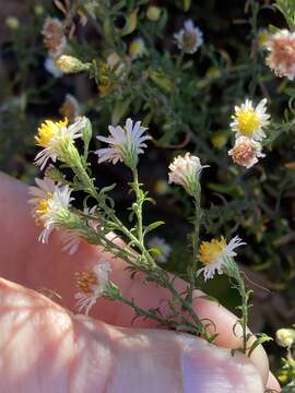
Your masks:
<svg viewBox="0 0 295 393"><path fill-rule="evenodd" d="M266 44L269 56L267 64L276 76L286 76L290 81L295 78L295 32L281 29L270 36Z"/></svg>

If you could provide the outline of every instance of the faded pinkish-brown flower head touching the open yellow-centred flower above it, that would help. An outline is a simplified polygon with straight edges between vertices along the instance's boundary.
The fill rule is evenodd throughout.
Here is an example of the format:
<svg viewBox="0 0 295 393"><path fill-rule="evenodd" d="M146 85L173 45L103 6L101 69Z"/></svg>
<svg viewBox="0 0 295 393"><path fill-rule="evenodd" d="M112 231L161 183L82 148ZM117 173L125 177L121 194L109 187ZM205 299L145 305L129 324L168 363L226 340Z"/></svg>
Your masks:
<svg viewBox="0 0 295 393"><path fill-rule="evenodd" d="M232 156L234 163L249 169L258 163L259 157L266 157L261 150L262 146L259 142L247 136L239 136L235 141L234 147L229 150L228 155Z"/></svg>

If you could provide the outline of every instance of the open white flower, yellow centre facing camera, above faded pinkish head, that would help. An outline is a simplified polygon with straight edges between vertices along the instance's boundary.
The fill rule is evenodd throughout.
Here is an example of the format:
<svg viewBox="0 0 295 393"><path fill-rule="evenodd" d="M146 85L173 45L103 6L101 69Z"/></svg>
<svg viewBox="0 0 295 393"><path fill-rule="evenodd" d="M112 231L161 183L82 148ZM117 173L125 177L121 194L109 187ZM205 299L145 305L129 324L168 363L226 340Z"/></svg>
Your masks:
<svg viewBox="0 0 295 393"><path fill-rule="evenodd" d="M255 141L266 138L263 128L270 123L270 115L267 114L266 108L267 102L267 98L261 99L255 108L252 102L247 98L240 106L235 106L231 128L236 132L236 138L248 136Z"/></svg>

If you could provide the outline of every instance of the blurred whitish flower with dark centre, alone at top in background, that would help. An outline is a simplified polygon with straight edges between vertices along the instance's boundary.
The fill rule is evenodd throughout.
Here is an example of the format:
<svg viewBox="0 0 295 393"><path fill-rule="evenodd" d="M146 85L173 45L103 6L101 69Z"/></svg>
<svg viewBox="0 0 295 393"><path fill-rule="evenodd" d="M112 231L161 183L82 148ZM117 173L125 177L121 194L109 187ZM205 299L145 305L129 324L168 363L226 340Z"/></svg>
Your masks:
<svg viewBox="0 0 295 393"><path fill-rule="evenodd" d="M185 53L194 53L203 44L203 33L193 25L191 20L185 22L185 28L174 34L179 49Z"/></svg>

